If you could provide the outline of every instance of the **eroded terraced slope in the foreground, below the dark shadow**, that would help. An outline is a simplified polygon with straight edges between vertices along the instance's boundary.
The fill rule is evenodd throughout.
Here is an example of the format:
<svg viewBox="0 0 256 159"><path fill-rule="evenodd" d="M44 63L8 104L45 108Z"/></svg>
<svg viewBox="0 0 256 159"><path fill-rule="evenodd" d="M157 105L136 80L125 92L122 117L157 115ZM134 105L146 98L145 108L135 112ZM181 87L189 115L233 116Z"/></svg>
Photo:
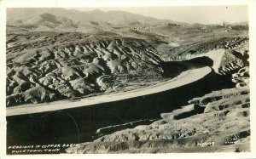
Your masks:
<svg viewBox="0 0 256 159"><path fill-rule="evenodd" d="M234 76L248 81L248 73L243 69ZM162 119L151 124L124 125L110 134L104 132L111 128L104 128L98 139L69 148L67 153L249 151L248 84L191 99L189 105L162 113Z"/></svg>

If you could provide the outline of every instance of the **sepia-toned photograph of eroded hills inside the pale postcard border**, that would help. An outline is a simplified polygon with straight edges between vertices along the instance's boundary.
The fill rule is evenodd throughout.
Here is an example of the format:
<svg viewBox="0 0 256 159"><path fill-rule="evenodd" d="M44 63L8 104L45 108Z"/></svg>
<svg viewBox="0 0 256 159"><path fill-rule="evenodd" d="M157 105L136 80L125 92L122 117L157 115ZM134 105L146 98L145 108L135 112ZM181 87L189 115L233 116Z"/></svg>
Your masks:
<svg viewBox="0 0 256 159"><path fill-rule="evenodd" d="M4 22L8 156L251 152L247 5L15 7Z"/></svg>

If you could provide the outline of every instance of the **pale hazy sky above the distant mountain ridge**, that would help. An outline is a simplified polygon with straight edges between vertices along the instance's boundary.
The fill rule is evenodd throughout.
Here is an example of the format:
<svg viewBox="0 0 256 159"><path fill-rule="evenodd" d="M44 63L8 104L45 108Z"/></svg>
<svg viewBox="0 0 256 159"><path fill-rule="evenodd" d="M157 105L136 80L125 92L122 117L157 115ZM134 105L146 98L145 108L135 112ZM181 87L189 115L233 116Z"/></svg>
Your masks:
<svg viewBox="0 0 256 159"><path fill-rule="evenodd" d="M102 11L123 10L157 19L180 22L216 24L248 20L247 6L185 6L185 7L134 7L134 8L76 8L80 11L101 9Z"/></svg>

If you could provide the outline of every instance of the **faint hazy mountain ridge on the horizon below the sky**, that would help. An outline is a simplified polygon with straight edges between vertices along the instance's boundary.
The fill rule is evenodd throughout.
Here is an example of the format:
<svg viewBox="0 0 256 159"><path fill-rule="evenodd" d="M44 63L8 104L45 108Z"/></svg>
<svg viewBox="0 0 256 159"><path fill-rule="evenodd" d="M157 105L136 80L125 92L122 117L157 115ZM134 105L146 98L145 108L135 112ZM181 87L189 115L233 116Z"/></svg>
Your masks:
<svg viewBox="0 0 256 159"><path fill-rule="evenodd" d="M106 22L115 25L127 25L133 22L139 23L170 23L172 20L158 20L152 17L143 16L140 14L131 14L125 11L108 11L103 12L99 9L92 11L78 11L74 9L7 9L7 20L15 21L22 20L27 21L35 19L41 14L52 14L55 16L67 18L74 22Z"/></svg>

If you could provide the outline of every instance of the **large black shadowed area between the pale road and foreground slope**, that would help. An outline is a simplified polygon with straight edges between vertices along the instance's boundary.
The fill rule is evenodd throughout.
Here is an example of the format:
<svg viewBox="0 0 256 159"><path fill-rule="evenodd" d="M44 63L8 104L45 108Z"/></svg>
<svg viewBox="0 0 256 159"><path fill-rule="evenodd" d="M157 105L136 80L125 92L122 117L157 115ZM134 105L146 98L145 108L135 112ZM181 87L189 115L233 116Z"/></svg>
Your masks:
<svg viewBox="0 0 256 159"><path fill-rule="evenodd" d="M194 61L197 63L196 60L192 60ZM172 66L176 64L177 62L169 62L165 68L173 69ZM200 65L211 65L211 61ZM189 99L208 94L212 90L231 87L234 85L230 79L212 71L197 82L157 94L62 111L9 116L7 145L69 144L90 141L98 128L140 119L157 119L162 112L170 112L188 105Z"/></svg>

